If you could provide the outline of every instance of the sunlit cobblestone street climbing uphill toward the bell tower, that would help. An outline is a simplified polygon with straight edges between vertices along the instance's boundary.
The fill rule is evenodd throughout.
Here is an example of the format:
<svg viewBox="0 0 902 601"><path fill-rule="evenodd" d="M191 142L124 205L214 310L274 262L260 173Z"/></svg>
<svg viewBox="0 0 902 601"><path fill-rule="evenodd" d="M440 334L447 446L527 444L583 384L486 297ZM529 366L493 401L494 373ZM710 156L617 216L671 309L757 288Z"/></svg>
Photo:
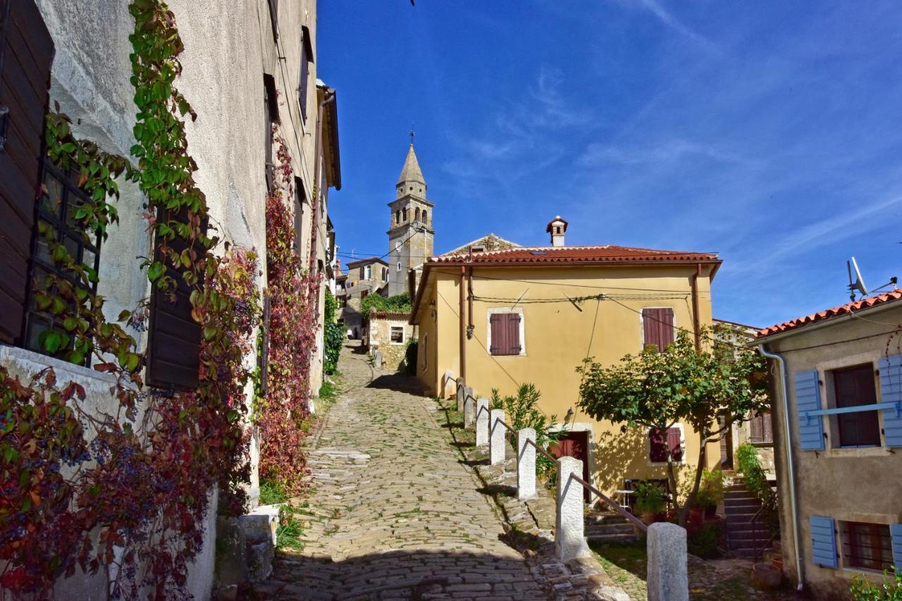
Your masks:
<svg viewBox="0 0 902 601"><path fill-rule="evenodd" d="M415 380L345 347L344 391L308 450L302 551L280 550L260 598L548 598ZM410 392L405 392L405 389Z"/></svg>

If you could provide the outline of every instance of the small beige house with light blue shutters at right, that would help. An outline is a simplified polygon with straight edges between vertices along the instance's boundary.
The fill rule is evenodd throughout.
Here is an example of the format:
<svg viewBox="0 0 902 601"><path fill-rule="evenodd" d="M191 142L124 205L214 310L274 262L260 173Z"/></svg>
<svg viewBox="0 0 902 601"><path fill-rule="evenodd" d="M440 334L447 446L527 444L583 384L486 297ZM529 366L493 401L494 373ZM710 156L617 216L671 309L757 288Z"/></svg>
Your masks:
<svg viewBox="0 0 902 601"><path fill-rule="evenodd" d="M902 426L896 410L902 347L893 329L902 322L902 301L897 300L902 295L890 294L889 301L856 307L855 314L839 308L823 314L835 317L813 319L809 325L784 332L768 328L770 335L758 340L786 363L784 398L779 364L770 361L783 566L795 583L797 551L801 580L818 598L848 596L851 578L879 580L880 569L902 559L902 545L893 544L902 538L891 538L902 528L894 526L902 522L902 454L897 448ZM816 411L815 399L823 410L846 406L842 383L854 373L863 377L852 402L883 403L888 410L846 413L851 421L842 414L809 417L800 412L800 399L803 410ZM851 428L871 439L851 439ZM850 523L864 524L853 528L867 535L850 532ZM876 552L886 565L861 565L863 555L875 553L864 547L872 546L880 547Z"/></svg>

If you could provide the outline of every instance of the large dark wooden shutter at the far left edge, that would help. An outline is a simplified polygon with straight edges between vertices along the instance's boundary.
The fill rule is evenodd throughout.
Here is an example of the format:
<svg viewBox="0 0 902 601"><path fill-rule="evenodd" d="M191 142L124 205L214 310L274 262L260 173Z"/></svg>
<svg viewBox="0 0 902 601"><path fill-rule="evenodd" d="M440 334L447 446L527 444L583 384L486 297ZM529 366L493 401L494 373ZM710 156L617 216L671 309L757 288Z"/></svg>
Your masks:
<svg viewBox="0 0 902 601"><path fill-rule="evenodd" d="M9 3L12 5L7 6ZM41 181L44 116L53 62L53 40L33 0L0 0L9 8L0 36L0 341L21 342L32 258L34 199Z"/></svg>

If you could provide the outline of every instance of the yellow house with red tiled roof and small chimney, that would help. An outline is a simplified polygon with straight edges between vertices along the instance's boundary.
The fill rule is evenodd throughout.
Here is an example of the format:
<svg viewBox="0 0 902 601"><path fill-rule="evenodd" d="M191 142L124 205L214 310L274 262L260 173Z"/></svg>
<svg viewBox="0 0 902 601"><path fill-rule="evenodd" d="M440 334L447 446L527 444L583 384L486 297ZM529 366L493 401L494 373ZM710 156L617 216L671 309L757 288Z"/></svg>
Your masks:
<svg viewBox="0 0 902 601"><path fill-rule="evenodd" d="M417 373L432 395L442 393L446 370L463 376L477 397L535 384L542 411L558 421L569 414L567 448L584 459L585 476L613 493L625 479L665 478L666 443L649 432L621 433L620 424L579 411L576 367L587 356L613 365L648 344L665 347L677 329L710 326L711 281L721 260L711 253L567 246L566 226L560 217L548 224L550 246L430 257L411 316L419 326ZM677 424L667 440L694 468L695 431ZM719 445L709 444L707 467L719 460Z"/></svg>

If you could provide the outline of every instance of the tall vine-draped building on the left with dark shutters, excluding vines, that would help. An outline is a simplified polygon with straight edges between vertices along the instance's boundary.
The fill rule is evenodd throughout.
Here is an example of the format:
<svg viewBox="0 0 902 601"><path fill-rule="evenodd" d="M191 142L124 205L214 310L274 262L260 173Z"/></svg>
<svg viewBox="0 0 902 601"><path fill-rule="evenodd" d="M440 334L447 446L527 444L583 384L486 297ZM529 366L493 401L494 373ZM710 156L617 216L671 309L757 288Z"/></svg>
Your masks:
<svg viewBox="0 0 902 601"><path fill-rule="evenodd" d="M341 176L336 93L325 84L318 85L317 79L317 3L169 0L167 4L185 47L179 56L182 71L174 85L197 113L196 120L186 116L185 131L189 153L197 162L194 179L206 196L216 236L257 251L263 272L257 288L262 296L265 199L275 162L272 128L278 125L295 171L295 199L291 200L299 232L296 250L305 265L325 273L330 236L314 240L312 232L327 230L328 189L340 187ZM30 282L36 270L46 267L42 263L46 257L32 253L38 223L71 227L65 217L45 215L43 209L34 218L35 190L41 190L43 183L46 196L52 197L50 206L61 211L74 207L81 194L78 178L60 174L43 156L42 127L49 107L59 103L79 138L137 163L130 150L136 142L137 108L130 83L129 34L134 20L129 5L119 0L0 3L0 17L4 9L11 9L3 23L8 35L0 36L5 44L0 48L5 56L0 107L9 109L8 115L0 117L0 135L6 134L0 152L0 365L17 377L51 366L60 385L71 382L84 387L85 408L112 414L118 410L110 393L112 376L93 369L89 360L73 365L41 351L37 340L47 322L34 305ZM96 266L96 291L106 299L103 310L111 323L121 311L133 310L159 293L152 290L141 261L135 260L151 253L143 216L145 199L131 181L120 179L118 186L119 220L107 228L102 245L92 232L76 233L79 240L86 240L84 244L72 238L78 257ZM319 190L316 197L315 190ZM322 291L319 302L321 306ZM143 379L163 390L190 389L198 380L199 326L190 317L175 329L167 330L163 323L152 314L147 331L128 331L139 351L153 350L155 362L144 368ZM314 385L321 373L321 355L320 337L311 353ZM254 361L248 357L249 364ZM249 485L254 504L259 495L257 458L254 446ZM187 592L198 599L210 598L213 581L216 493L209 494L206 541L189 566L187 582ZM94 574L77 571L58 582L56 596L106 598L111 569L101 566Z"/></svg>

